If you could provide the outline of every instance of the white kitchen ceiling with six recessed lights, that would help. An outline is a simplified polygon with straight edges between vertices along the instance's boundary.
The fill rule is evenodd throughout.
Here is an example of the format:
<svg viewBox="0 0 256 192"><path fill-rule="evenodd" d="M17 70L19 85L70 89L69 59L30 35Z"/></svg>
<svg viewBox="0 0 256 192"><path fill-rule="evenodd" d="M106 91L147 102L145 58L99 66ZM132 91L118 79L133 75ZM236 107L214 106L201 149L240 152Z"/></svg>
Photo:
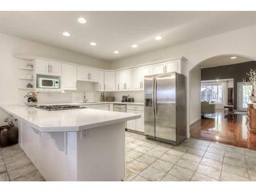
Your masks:
<svg viewBox="0 0 256 192"><path fill-rule="evenodd" d="M78 17L87 23L78 23ZM256 12L241 11L0 12L1 33L109 61L255 24ZM63 36L65 31L71 36ZM157 35L162 40L156 41Z"/></svg>

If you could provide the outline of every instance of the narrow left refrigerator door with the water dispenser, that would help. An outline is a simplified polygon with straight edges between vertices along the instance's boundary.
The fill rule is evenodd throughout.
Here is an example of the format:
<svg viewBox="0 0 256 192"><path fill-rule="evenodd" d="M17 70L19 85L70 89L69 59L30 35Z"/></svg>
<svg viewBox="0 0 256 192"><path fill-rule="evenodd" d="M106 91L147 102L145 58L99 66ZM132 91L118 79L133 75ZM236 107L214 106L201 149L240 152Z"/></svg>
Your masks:
<svg viewBox="0 0 256 192"><path fill-rule="evenodd" d="M155 137L155 112L154 112L154 80L155 75L144 77L144 133Z"/></svg>

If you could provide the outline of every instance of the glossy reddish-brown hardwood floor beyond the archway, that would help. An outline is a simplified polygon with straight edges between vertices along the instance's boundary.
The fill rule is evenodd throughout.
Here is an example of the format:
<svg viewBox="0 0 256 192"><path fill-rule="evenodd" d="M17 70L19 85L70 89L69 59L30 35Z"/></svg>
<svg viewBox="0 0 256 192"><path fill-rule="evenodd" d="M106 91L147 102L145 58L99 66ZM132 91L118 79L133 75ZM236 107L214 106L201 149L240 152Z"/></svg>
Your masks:
<svg viewBox="0 0 256 192"><path fill-rule="evenodd" d="M190 125L190 136L256 150L256 134L249 133L245 117L246 114L234 114L233 119L227 119L223 110L216 110L215 118L201 119Z"/></svg>

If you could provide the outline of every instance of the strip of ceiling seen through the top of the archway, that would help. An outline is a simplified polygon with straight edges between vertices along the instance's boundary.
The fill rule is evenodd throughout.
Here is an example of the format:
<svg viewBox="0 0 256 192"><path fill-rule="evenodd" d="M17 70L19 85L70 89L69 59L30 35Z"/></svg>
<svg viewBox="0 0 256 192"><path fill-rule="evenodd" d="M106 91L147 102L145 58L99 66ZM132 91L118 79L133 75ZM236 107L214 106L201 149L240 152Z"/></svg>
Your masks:
<svg viewBox="0 0 256 192"><path fill-rule="evenodd" d="M231 59L230 57L236 56L237 58ZM214 58L209 58L200 63L201 68L210 68L210 67L218 67L218 66L227 66L233 65L237 63L252 61L252 59L247 57L242 57L238 55L225 55Z"/></svg>

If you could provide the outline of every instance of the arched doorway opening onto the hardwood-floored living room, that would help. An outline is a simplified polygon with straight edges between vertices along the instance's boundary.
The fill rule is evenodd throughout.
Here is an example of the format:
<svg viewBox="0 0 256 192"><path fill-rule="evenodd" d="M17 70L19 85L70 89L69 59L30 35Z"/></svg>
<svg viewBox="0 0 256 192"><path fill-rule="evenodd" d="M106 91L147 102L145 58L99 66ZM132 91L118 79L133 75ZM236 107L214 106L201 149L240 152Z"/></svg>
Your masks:
<svg viewBox="0 0 256 192"><path fill-rule="evenodd" d="M243 104L248 101L248 96L246 100L243 94L242 99L239 98L241 93L238 84L243 81L243 77L251 68L256 69L254 58L238 54L223 54L204 59L189 71L191 137L256 150L256 134L249 133L247 130L247 114L237 112L241 100ZM203 104L205 104L203 101L214 101L215 107L211 105L208 108L206 105L201 109L201 101ZM230 108L232 106L232 119L225 117L224 109L228 105ZM207 112L205 115L211 117L202 119L202 110Z"/></svg>

